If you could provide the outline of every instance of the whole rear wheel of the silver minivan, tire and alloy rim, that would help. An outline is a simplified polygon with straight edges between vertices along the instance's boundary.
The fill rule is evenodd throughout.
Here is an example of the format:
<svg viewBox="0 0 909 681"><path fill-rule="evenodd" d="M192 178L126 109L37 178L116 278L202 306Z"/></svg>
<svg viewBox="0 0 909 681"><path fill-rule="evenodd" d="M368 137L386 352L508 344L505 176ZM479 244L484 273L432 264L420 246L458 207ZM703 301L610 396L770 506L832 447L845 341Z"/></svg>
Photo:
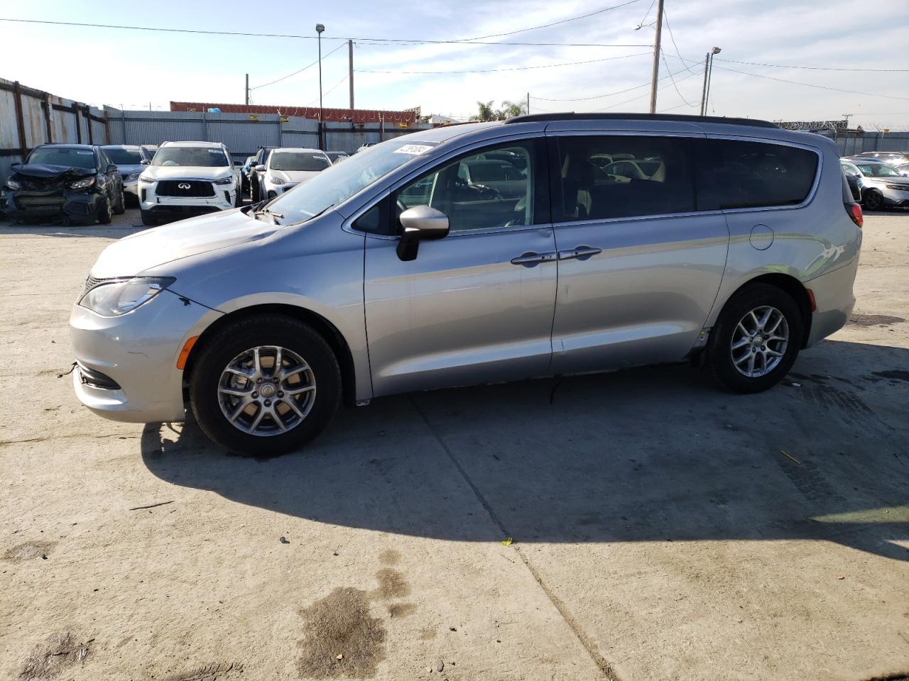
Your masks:
<svg viewBox="0 0 909 681"><path fill-rule="evenodd" d="M720 313L707 344L706 369L727 390L767 390L792 369L803 333L792 296L769 284L751 284Z"/></svg>

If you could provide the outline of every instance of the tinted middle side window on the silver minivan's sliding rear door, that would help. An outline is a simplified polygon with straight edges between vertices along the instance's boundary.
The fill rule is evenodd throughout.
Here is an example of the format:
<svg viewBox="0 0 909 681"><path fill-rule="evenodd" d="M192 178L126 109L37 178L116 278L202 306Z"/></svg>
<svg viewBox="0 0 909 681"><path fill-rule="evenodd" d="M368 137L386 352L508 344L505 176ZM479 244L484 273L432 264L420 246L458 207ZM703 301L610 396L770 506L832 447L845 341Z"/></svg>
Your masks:
<svg viewBox="0 0 909 681"><path fill-rule="evenodd" d="M557 144L556 222L694 211L687 139L560 137Z"/></svg>

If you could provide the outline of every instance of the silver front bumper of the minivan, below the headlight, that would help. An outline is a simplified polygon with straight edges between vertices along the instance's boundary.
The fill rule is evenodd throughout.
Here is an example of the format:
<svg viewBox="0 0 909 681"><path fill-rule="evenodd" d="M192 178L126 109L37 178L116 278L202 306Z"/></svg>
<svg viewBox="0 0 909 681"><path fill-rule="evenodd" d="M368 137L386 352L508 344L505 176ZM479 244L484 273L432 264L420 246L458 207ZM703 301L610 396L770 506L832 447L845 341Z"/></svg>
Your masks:
<svg viewBox="0 0 909 681"><path fill-rule="evenodd" d="M185 419L183 371L176 368L177 358L188 338L221 316L185 300L162 291L120 317L73 305L73 387L89 410L105 419L137 423ZM107 387L99 375L111 381Z"/></svg>

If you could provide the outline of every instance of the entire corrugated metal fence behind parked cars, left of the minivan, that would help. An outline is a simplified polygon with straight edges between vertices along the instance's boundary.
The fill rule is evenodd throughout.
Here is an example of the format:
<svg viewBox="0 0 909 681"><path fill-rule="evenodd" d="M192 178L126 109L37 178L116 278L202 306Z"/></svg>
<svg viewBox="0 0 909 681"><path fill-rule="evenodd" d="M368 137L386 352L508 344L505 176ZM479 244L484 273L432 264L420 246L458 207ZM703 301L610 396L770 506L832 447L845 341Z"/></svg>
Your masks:
<svg viewBox="0 0 909 681"><path fill-rule="evenodd" d="M0 78L0 183L10 165L25 161L38 144L160 144L165 141L223 142L235 160L260 146L319 145L319 123L299 116L207 114L179 111L104 110ZM425 130L393 123L325 123L325 149L353 153L367 142Z"/></svg>

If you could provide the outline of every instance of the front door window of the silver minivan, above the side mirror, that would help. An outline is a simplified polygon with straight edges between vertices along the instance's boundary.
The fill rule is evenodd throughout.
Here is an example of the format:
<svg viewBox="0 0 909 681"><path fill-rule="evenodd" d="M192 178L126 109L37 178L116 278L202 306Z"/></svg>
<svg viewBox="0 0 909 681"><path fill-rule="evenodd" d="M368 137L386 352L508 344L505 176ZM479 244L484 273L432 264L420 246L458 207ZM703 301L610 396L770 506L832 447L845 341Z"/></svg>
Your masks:
<svg viewBox="0 0 909 681"><path fill-rule="evenodd" d="M445 163L398 190L395 222L409 208L430 206L448 216L453 233L532 225L535 154L534 140L524 140Z"/></svg>

